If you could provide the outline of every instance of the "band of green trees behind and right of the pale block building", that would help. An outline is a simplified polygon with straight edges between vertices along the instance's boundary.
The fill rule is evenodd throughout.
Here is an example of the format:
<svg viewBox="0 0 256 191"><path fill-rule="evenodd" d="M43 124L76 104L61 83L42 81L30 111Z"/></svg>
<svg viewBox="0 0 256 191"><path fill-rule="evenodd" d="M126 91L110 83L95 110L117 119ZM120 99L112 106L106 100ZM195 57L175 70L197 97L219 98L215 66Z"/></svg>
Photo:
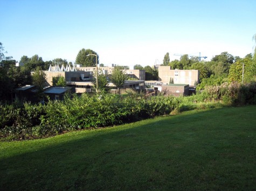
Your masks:
<svg viewBox="0 0 256 191"><path fill-rule="evenodd" d="M172 69L199 70L198 89L204 89L205 85L220 85L223 82L251 82L256 76L256 56L252 53L241 58L223 52L212 57L211 61L199 61L199 57L190 57L188 54L182 55L179 60L170 61L167 53L162 65L169 65Z"/></svg>

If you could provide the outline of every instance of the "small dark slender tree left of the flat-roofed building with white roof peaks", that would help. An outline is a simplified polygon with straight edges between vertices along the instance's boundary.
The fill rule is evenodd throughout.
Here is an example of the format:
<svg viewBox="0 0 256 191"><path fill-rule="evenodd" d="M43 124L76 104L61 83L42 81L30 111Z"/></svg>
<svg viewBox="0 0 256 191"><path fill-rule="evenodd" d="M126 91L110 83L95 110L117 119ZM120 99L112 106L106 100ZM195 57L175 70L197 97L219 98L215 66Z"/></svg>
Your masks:
<svg viewBox="0 0 256 191"><path fill-rule="evenodd" d="M32 84L38 87L38 97L42 97L44 87L46 86L46 74L44 71L41 71L40 67L37 67L32 75Z"/></svg>

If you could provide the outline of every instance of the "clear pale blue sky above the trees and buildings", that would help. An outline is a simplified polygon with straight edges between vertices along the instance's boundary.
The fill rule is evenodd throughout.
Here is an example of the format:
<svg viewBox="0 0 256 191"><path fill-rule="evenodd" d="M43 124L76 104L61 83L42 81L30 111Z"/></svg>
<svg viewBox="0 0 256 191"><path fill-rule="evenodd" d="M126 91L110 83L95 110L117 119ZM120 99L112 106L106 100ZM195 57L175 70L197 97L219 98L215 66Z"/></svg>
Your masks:
<svg viewBox="0 0 256 191"><path fill-rule="evenodd" d="M168 52L252 53L255 0L0 0L0 42L8 56L75 61L92 49L105 65L154 65Z"/></svg>

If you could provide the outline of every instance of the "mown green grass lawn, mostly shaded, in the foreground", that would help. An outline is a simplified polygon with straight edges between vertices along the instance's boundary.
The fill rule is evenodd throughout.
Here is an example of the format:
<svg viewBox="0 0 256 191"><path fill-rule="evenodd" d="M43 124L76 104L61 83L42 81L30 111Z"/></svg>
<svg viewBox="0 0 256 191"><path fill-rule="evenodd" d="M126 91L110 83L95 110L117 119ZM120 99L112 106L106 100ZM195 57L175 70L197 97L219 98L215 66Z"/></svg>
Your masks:
<svg viewBox="0 0 256 191"><path fill-rule="evenodd" d="M256 107L0 142L0 190L255 190Z"/></svg>

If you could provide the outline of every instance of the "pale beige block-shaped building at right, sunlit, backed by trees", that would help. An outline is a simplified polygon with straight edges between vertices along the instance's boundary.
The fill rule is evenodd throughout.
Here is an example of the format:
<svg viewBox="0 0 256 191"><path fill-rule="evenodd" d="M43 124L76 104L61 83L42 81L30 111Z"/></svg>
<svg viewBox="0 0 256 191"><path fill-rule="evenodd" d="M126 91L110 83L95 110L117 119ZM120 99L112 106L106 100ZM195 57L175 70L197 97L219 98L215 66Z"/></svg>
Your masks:
<svg viewBox="0 0 256 191"><path fill-rule="evenodd" d="M160 66L158 68L158 80L163 84L189 84L195 86L199 83L199 70L171 70L170 66Z"/></svg>

